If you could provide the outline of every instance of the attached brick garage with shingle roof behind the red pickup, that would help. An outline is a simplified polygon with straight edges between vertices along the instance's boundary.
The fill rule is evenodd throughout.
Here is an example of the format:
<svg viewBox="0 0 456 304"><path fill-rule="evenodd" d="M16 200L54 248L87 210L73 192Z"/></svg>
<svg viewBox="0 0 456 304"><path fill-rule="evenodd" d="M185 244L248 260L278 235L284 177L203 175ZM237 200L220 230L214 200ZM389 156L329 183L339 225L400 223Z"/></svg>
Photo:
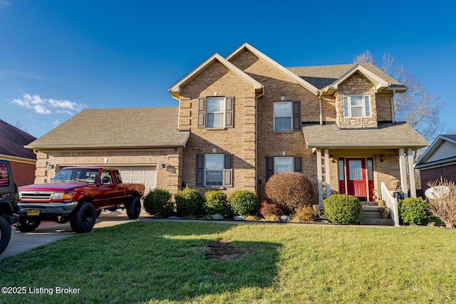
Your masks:
<svg viewBox="0 0 456 304"><path fill-rule="evenodd" d="M177 107L83 110L26 146L37 154L35 183L62 167L103 166L119 169L123 182L145 184L146 193L156 187L176 193L190 136L177 130L178 114Z"/></svg>

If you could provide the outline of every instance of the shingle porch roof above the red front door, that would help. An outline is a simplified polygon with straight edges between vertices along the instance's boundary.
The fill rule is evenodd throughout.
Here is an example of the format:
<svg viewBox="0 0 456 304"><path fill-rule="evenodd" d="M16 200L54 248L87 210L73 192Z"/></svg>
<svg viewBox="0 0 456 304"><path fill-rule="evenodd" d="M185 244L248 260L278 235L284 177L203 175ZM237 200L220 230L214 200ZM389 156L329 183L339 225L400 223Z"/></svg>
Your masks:
<svg viewBox="0 0 456 304"><path fill-rule="evenodd" d="M378 147L420 149L429 145L405 122L380 123L378 129L339 129L336 124L302 128L307 147Z"/></svg>

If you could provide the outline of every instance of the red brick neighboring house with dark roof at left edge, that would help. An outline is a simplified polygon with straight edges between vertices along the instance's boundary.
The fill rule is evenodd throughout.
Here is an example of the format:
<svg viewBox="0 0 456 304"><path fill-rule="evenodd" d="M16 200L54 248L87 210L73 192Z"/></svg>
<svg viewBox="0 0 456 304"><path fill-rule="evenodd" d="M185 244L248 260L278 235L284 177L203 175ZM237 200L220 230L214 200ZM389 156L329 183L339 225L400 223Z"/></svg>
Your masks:
<svg viewBox="0 0 456 304"><path fill-rule="evenodd" d="M36 137L0 120L0 159L9 160L14 183L20 187L33 184L35 179L36 154L24 148Z"/></svg>

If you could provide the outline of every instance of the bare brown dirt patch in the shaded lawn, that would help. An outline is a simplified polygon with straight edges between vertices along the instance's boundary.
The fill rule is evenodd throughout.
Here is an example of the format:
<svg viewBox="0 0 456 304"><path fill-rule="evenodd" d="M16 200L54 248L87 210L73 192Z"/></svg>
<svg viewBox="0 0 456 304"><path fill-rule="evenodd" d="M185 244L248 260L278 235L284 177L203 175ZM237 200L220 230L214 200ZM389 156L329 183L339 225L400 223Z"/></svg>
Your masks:
<svg viewBox="0 0 456 304"><path fill-rule="evenodd" d="M244 254L252 253L257 249L254 246L232 246L230 241L222 239L207 243L207 248L204 258L206 260L215 258L218 261L239 260Z"/></svg>

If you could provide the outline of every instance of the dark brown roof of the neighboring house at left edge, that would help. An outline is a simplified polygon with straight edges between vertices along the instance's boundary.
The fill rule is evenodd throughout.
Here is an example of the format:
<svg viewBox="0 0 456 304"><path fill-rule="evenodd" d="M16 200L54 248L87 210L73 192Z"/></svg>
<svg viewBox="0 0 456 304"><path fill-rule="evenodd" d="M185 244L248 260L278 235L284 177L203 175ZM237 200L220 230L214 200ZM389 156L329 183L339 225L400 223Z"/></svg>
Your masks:
<svg viewBox="0 0 456 304"><path fill-rule="evenodd" d="M0 154L27 159L36 159L33 151L24 148L36 137L0 120Z"/></svg>

